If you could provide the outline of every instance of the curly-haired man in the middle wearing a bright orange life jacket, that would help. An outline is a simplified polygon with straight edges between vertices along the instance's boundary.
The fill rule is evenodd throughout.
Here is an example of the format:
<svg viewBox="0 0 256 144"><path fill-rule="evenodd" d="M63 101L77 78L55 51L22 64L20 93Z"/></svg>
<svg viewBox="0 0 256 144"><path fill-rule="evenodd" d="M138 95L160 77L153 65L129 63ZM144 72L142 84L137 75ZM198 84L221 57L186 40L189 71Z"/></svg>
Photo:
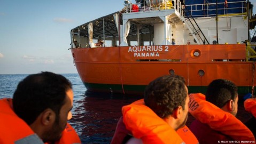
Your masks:
<svg viewBox="0 0 256 144"><path fill-rule="evenodd" d="M184 143L176 130L187 122L188 103L183 77L154 79L146 86L144 99L122 107L111 143Z"/></svg>

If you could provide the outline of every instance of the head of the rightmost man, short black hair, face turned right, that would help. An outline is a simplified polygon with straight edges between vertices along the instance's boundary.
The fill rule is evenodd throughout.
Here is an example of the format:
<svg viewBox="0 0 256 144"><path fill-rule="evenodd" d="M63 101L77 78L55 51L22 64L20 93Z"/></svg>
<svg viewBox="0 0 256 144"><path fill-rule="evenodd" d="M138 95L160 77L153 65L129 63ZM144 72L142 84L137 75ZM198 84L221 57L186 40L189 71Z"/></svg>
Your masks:
<svg viewBox="0 0 256 144"><path fill-rule="evenodd" d="M206 101L236 116L238 93L237 86L227 79L215 79L206 92Z"/></svg>

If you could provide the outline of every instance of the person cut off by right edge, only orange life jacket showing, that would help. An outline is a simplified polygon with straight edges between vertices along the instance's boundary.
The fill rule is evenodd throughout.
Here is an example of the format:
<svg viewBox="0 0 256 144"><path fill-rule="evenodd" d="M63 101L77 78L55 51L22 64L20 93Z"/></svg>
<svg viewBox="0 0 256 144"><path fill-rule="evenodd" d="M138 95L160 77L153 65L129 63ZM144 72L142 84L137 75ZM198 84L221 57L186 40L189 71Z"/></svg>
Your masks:
<svg viewBox="0 0 256 144"><path fill-rule="evenodd" d="M244 101L244 108L249 111L253 117L245 123L245 125L252 131L254 137L256 136L256 98L246 99Z"/></svg>

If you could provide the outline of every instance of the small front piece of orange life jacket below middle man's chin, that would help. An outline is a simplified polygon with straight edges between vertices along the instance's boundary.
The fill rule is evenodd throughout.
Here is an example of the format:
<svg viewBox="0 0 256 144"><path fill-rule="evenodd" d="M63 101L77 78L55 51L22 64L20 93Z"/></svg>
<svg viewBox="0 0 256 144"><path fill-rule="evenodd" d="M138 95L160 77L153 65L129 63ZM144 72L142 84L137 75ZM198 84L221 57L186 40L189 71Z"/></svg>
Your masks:
<svg viewBox="0 0 256 144"><path fill-rule="evenodd" d="M199 143L196 136L190 131L190 129L187 125L185 125L184 127L181 127L179 130L177 130L177 133L180 135L180 137L186 144L198 144Z"/></svg>

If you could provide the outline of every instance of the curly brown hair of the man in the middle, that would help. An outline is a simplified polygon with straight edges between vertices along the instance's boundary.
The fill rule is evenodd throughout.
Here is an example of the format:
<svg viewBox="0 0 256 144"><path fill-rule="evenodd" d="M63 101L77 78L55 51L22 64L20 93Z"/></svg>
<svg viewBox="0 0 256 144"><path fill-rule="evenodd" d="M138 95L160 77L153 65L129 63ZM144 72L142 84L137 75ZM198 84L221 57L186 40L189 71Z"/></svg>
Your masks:
<svg viewBox="0 0 256 144"><path fill-rule="evenodd" d="M154 79L144 91L145 105L161 118L173 114L178 106L184 109L186 97L185 79L178 75Z"/></svg>

